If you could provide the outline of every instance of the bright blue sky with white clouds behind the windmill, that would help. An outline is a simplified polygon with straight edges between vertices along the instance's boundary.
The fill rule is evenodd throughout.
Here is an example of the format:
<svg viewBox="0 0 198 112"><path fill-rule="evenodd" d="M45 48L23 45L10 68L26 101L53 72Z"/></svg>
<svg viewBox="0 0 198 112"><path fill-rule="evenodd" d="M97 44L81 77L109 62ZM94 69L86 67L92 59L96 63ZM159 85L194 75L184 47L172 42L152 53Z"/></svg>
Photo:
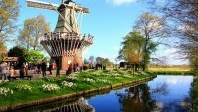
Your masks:
<svg viewBox="0 0 198 112"><path fill-rule="evenodd" d="M39 0L60 4L61 0ZM132 31L138 17L149 11L148 6L137 0L73 0L77 4L89 8L90 14L84 14L81 23L81 34L91 34L94 36L94 44L89 46L83 53L84 59L90 56L109 58L116 62L123 37ZM44 15L46 21L50 22L53 32L58 14L55 11L30 8L26 5L26 0L19 0L21 5L18 24L23 27L25 19ZM171 59L175 57L174 48L160 48L158 56L168 56L167 64L185 64L186 61Z"/></svg>

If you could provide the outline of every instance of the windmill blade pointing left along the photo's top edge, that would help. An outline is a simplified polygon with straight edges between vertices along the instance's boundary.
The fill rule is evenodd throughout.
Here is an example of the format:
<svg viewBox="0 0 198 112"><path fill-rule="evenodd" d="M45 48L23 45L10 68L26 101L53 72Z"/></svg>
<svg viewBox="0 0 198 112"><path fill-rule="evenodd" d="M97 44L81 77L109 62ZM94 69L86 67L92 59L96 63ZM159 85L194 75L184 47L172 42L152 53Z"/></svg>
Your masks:
<svg viewBox="0 0 198 112"><path fill-rule="evenodd" d="M48 9L48 10L55 10L54 8L58 8L59 6L56 4L50 4L47 2L41 2L38 0L26 0L28 7L33 8L41 8L41 9ZM52 6L53 5L53 6Z"/></svg>

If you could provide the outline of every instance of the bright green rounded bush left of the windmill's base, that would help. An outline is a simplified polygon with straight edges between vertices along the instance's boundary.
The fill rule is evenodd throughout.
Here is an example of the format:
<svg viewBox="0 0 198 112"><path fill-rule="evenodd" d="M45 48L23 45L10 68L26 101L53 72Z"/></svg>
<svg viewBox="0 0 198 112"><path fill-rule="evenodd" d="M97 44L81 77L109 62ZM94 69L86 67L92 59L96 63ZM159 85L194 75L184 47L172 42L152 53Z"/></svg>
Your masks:
<svg viewBox="0 0 198 112"><path fill-rule="evenodd" d="M38 62L41 61L43 59L44 55L36 50L29 50L27 52L27 62Z"/></svg>

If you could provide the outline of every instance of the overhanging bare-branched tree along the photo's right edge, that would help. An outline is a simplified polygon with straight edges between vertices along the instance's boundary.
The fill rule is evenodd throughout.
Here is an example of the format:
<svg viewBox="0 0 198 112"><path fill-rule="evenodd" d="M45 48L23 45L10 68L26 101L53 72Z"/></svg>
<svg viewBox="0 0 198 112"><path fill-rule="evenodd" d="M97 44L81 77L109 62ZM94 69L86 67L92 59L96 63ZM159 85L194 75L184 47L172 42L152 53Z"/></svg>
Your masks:
<svg viewBox="0 0 198 112"><path fill-rule="evenodd" d="M174 37L180 49L181 58L190 60L195 72L198 73L198 2L197 0L166 0L158 3L157 0L147 1L152 11L157 11L163 18L172 24Z"/></svg>

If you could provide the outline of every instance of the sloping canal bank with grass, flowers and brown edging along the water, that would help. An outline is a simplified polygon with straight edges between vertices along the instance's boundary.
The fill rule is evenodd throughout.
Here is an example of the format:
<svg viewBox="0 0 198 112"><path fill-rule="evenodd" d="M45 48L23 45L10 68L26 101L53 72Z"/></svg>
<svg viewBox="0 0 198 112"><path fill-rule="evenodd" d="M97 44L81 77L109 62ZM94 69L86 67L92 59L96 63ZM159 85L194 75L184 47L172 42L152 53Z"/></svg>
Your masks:
<svg viewBox="0 0 198 112"><path fill-rule="evenodd" d="M155 75L136 74L131 71L87 71L73 74L69 77L53 79L39 79L33 81L19 80L0 84L0 87L9 88L14 94L2 97L0 111L9 111L20 108L38 106L55 101L77 98L87 94L111 90L129 85L140 84L151 80ZM66 87L63 82L75 84L75 87ZM57 91L44 91L42 86L55 84L60 87ZM20 85L20 87L19 87ZM31 90L26 90L25 87Z"/></svg>

